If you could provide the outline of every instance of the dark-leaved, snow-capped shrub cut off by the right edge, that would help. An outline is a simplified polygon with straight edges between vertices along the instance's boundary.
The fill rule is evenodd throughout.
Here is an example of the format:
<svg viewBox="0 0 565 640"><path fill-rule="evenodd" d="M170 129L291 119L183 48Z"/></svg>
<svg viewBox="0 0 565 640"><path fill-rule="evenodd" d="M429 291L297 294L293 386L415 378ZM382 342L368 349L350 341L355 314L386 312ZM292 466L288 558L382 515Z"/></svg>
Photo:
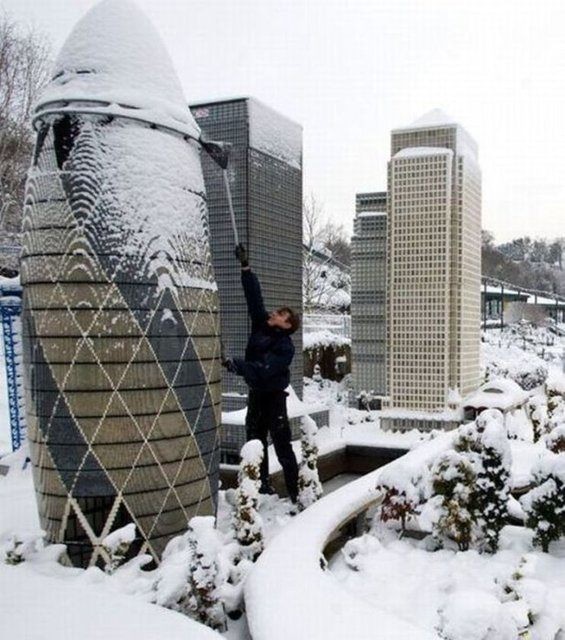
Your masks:
<svg viewBox="0 0 565 640"><path fill-rule="evenodd" d="M535 531L534 544L549 544L565 536L565 453L548 451L534 469L534 487L520 498L526 525Z"/></svg>

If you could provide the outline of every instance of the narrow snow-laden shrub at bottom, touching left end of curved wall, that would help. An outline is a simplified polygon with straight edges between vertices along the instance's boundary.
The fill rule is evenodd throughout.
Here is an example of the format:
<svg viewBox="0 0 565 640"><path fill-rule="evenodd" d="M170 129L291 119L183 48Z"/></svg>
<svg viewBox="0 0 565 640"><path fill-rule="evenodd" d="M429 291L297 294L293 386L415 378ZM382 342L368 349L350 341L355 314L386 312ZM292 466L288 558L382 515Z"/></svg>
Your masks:
<svg viewBox="0 0 565 640"><path fill-rule="evenodd" d="M190 567L185 607L195 620L212 629L225 629L225 611L218 597L219 549L214 525L212 516L197 516L189 522Z"/></svg>

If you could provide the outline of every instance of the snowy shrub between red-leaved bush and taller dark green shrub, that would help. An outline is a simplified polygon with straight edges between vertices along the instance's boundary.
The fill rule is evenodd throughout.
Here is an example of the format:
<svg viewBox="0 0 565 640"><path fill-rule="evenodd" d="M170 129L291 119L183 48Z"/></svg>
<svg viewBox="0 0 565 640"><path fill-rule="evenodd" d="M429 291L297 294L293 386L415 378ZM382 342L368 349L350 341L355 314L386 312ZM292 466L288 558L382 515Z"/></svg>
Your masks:
<svg viewBox="0 0 565 640"><path fill-rule="evenodd" d="M457 451L446 451L432 467L432 500L437 516L433 536L453 540L461 551L471 545L476 473L469 459Z"/></svg>

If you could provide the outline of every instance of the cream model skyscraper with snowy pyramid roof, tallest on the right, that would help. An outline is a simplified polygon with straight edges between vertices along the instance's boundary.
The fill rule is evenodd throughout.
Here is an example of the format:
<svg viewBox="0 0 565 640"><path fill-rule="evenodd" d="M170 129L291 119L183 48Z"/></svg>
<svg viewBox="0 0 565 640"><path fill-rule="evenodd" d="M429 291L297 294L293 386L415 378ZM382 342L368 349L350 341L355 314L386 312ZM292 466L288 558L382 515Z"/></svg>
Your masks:
<svg viewBox="0 0 565 640"><path fill-rule="evenodd" d="M442 411L479 382L481 175L477 145L440 111L392 132L387 391Z"/></svg>

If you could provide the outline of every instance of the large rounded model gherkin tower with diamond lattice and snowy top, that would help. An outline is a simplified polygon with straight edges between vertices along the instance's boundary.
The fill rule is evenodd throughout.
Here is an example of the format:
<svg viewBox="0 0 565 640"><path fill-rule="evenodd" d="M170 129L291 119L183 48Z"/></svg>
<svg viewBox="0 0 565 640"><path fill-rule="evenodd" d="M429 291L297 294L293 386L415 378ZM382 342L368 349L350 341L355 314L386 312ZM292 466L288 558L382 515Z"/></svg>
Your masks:
<svg viewBox="0 0 565 640"><path fill-rule="evenodd" d="M199 129L135 5L77 24L34 115L21 277L40 521L73 564L214 513L219 321ZM107 559L107 558L106 558Z"/></svg>

